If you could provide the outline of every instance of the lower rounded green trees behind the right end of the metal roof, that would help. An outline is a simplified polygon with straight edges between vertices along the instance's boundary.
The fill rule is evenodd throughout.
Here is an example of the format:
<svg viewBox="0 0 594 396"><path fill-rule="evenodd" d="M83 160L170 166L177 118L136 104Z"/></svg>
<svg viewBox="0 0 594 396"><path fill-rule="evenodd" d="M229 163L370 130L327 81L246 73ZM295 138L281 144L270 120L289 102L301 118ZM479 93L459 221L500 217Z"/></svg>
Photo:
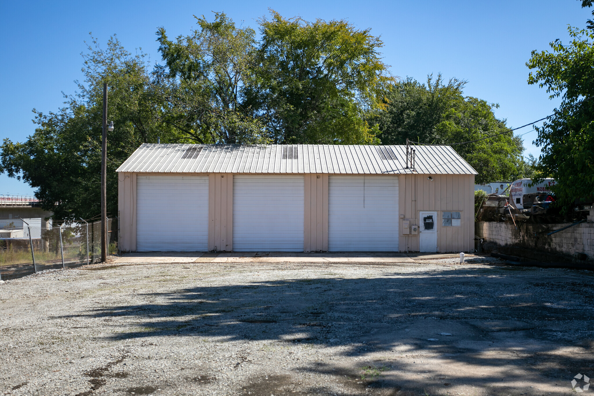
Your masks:
<svg viewBox="0 0 594 396"><path fill-rule="evenodd" d="M522 157L519 137L497 119L497 104L464 96L466 81L429 75L426 84L412 78L392 85L386 94L387 109L372 118L377 122L382 144L405 144L406 139L452 147L479 173L477 183L515 180L532 175ZM486 140L482 138L498 135ZM466 144L455 143L474 141Z"/></svg>

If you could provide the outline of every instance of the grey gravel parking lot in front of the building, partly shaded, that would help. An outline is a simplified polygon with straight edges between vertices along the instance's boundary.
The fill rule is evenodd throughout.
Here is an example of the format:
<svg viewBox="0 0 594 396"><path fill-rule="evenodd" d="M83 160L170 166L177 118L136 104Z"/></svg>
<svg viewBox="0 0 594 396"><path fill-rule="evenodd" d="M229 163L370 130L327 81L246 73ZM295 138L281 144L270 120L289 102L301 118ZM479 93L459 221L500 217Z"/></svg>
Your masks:
<svg viewBox="0 0 594 396"><path fill-rule="evenodd" d="M0 393L548 395L594 377L590 271L257 260L0 284Z"/></svg>

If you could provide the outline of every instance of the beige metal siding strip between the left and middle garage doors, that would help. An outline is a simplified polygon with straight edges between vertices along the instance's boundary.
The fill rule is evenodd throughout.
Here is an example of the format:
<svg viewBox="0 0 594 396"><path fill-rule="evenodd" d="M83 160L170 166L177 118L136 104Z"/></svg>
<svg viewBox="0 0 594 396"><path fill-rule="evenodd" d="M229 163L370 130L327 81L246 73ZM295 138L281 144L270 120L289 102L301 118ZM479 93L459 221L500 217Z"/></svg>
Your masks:
<svg viewBox="0 0 594 396"><path fill-rule="evenodd" d="M233 175L208 175L208 251L233 251Z"/></svg>

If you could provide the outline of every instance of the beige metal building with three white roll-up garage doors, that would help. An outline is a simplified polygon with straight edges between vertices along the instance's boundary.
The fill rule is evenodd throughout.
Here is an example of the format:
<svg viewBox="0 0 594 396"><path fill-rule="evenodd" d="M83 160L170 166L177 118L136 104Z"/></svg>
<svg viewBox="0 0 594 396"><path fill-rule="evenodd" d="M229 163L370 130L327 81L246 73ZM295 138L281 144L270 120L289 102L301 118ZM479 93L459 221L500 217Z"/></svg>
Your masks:
<svg viewBox="0 0 594 396"><path fill-rule="evenodd" d="M122 251L474 248L476 171L447 146L143 144L117 172Z"/></svg>

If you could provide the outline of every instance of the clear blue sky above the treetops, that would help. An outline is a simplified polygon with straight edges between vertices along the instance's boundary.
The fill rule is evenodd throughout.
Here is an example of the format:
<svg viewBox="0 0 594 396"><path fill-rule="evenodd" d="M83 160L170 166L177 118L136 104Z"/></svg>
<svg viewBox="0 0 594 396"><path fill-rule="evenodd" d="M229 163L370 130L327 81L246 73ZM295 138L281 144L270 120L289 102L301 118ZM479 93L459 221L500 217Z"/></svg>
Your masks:
<svg viewBox="0 0 594 396"><path fill-rule="evenodd" d="M568 40L567 25L583 27L590 11L576 0L555 1L26 1L2 0L0 138L23 141L34 131L31 109L62 106L81 79L80 53L89 32L105 43L111 34L134 52L160 61L157 27L169 37L195 27L192 15L225 11L236 23L257 28L273 8L306 20L345 18L384 40L391 72L424 81L429 73L468 80L465 93L499 103L499 118L516 127L551 114L557 101L527 85L530 51ZM528 132L530 128L518 131ZM536 132L523 136L527 154ZM0 194L33 194L23 182L0 175Z"/></svg>

